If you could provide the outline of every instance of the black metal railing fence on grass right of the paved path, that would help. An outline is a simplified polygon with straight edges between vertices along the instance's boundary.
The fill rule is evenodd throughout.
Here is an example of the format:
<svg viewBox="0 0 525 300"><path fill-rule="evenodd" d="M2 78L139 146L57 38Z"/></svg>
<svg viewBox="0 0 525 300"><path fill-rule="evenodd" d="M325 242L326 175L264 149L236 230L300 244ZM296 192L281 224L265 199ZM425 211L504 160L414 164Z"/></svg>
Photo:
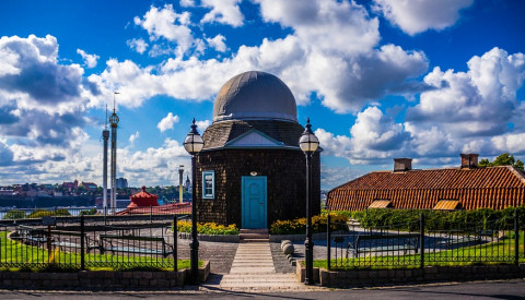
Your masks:
<svg viewBox="0 0 525 300"><path fill-rule="evenodd" d="M424 267L525 261L525 225L499 219L483 225L441 229L418 221L362 228L349 223L349 231L331 235L327 215L327 266L332 269ZM520 238L521 237L521 238Z"/></svg>

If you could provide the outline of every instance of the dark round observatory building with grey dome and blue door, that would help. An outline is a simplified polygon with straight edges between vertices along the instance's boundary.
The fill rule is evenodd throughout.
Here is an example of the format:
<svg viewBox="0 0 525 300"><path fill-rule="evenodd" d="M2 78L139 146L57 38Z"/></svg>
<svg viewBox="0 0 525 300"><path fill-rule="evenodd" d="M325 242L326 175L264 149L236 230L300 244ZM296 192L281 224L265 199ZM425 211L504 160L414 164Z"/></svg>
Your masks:
<svg viewBox="0 0 525 300"><path fill-rule="evenodd" d="M278 219L305 217L303 131L295 98L280 79L250 71L229 80L197 156L198 220L268 228ZM320 211L319 153L312 158L314 215Z"/></svg>

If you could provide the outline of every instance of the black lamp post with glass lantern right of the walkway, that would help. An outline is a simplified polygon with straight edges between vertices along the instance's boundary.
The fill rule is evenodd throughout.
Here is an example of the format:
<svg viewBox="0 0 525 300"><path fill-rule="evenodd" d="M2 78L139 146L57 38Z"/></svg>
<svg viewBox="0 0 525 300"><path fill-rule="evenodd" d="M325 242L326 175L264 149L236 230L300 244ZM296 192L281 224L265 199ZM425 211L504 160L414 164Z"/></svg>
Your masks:
<svg viewBox="0 0 525 300"><path fill-rule="evenodd" d="M306 156L306 240L304 241L305 256L306 256L306 274L304 276L305 285L314 284L314 241L312 240L312 155L319 146L319 140L312 132L312 124L310 124L310 118L306 119L306 127L304 129L301 139L299 140L299 146Z"/></svg>

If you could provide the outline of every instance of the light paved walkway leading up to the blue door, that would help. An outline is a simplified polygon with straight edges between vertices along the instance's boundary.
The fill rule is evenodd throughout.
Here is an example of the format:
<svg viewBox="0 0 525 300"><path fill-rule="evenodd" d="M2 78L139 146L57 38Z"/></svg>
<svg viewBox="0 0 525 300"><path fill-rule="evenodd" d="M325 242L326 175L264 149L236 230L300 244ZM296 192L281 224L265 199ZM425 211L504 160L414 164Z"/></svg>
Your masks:
<svg viewBox="0 0 525 300"><path fill-rule="evenodd" d="M294 273L277 273L269 242L240 243L230 273L202 286L203 290L304 291L319 290L301 284Z"/></svg>

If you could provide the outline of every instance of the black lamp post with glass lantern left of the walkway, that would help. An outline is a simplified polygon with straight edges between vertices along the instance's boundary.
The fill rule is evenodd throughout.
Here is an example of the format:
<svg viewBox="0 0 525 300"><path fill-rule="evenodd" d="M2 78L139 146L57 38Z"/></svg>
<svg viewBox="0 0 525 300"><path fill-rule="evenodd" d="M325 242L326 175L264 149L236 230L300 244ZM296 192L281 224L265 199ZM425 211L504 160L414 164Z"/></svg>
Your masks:
<svg viewBox="0 0 525 300"><path fill-rule="evenodd" d="M197 240L197 203L196 203L196 167L195 167L195 157L205 146L202 137L200 137L199 132L197 131L197 124L191 124L191 130L189 131L186 140L184 140L184 148L191 155L191 242L189 243L190 249L190 264L191 264L191 279L194 284L199 283L199 241Z"/></svg>

